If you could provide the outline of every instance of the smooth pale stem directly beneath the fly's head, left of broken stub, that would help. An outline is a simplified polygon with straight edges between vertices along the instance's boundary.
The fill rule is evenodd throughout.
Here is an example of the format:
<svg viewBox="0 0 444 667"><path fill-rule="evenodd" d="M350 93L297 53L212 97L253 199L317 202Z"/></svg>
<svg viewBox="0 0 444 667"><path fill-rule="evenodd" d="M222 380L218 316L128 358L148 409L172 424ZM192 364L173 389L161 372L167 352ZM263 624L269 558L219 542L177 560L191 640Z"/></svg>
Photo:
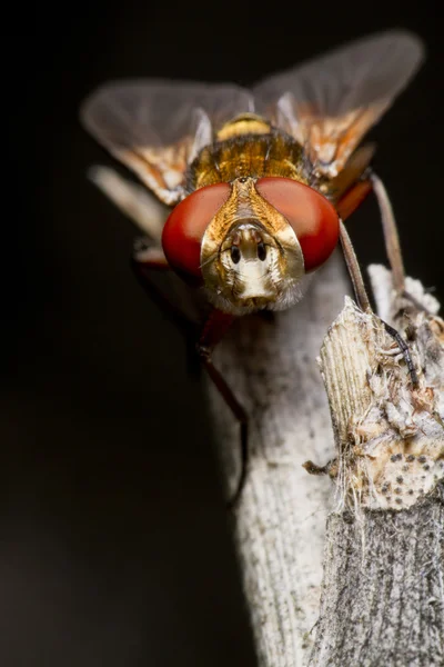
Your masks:
<svg viewBox="0 0 444 667"><path fill-rule="evenodd" d="M307 475L310 457L334 456L316 357L350 289L343 260L332 259L293 309L239 320L214 362L251 415L250 468L234 535L260 665L303 665L317 618L331 481ZM239 475L238 427L214 388L211 405L223 470Z"/></svg>

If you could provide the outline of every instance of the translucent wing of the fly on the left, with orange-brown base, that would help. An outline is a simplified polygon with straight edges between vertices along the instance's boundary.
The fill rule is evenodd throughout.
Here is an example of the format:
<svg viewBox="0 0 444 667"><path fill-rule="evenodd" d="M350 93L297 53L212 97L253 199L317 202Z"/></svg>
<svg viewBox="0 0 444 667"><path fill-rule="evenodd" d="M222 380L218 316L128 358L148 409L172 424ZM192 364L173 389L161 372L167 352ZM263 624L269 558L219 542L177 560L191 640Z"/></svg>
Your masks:
<svg viewBox="0 0 444 667"><path fill-rule="evenodd" d="M169 80L114 81L82 104L85 129L132 169L167 205L183 196L184 171L213 138L213 127L253 111L253 97L234 84Z"/></svg>

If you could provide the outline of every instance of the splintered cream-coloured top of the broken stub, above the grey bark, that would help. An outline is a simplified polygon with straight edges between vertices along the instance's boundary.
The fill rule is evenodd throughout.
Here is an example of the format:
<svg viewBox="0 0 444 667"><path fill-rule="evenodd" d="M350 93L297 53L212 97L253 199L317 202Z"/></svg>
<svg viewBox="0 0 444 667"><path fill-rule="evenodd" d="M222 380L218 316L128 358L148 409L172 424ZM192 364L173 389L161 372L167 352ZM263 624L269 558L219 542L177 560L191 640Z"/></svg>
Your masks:
<svg viewBox="0 0 444 667"><path fill-rule="evenodd" d="M407 331L417 387L381 320L349 298L319 361L339 448L339 506L403 509L444 478L444 322L421 283L407 279L413 300L397 298L390 272L371 271L385 318Z"/></svg>

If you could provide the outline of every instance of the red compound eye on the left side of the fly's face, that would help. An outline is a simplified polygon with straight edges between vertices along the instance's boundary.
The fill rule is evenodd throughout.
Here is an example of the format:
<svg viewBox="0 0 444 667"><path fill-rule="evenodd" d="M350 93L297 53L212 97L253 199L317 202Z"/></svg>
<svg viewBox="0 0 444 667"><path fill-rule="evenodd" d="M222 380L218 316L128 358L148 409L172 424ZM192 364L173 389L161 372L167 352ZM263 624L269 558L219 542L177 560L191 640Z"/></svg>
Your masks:
<svg viewBox="0 0 444 667"><path fill-rule="evenodd" d="M168 262L185 280L202 279L202 237L230 192L229 183L206 186L189 195L171 211L163 228L162 247Z"/></svg>

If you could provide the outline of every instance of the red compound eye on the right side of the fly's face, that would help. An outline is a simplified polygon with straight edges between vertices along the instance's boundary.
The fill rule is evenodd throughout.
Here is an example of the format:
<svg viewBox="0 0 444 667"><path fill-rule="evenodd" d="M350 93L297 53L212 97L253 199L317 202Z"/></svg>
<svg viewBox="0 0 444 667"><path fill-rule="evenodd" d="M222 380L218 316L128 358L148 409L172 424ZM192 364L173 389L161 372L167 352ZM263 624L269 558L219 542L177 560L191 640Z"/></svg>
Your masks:
<svg viewBox="0 0 444 667"><path fill-rule="evenodd" d="M265 177L258 192L282 213L297 237L305 271L317 269L331 256L340 235L335 208L313 188L290 178Z"/></svg>

